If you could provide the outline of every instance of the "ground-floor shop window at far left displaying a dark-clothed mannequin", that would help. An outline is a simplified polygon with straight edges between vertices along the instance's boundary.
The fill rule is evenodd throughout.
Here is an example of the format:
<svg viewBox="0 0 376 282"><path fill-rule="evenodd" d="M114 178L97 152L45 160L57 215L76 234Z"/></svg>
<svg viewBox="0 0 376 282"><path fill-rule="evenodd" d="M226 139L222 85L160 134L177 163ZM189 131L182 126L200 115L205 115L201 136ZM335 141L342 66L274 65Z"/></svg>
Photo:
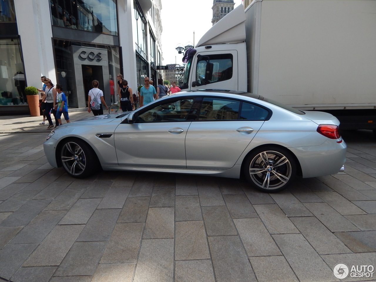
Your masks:
<svg viewBox="0 0 376 282"><path fill-rule="evenodd" d="M2 1L2 0L1 0ZM17 38L0 39L0 105L26 105L25 74Z"/></svg>

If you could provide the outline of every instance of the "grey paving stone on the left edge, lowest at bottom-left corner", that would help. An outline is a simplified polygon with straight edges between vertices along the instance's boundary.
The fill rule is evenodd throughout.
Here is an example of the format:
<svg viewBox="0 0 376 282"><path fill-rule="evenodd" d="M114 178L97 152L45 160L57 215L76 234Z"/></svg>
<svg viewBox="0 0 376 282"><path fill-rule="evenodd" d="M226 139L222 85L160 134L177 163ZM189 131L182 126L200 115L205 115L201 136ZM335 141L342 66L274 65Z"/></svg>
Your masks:
<svg viewBox="0 0 376 282"><path fill-rule="evenodd" d="M25 259L38 246L33 244L7 244L0 250L0 277L11 279Z"/></svg>

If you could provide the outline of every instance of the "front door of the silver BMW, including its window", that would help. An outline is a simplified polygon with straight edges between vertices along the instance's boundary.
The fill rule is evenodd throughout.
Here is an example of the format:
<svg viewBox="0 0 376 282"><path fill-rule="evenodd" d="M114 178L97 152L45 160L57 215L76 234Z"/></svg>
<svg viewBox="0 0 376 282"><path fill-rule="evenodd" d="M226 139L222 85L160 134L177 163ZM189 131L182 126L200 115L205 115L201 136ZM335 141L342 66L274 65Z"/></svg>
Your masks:
<svg viewBox="0 0 376 282"><path fill-rule="evenodd" d="M193 98L167 98L135 113L114 133L119 165L186 168L185 136Z"/></svg>

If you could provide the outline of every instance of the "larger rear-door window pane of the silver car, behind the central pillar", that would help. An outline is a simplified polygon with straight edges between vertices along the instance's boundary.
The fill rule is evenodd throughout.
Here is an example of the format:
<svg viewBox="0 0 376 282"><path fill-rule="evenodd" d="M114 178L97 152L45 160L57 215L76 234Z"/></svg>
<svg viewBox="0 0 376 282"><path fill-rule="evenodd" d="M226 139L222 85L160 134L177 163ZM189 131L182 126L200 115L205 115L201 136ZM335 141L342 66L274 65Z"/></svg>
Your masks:
<svg viewBox="0 0 376 282"><path fill-rule="evenodd" d="M199 120L238 120L240 101L204 97Z"/></svg>

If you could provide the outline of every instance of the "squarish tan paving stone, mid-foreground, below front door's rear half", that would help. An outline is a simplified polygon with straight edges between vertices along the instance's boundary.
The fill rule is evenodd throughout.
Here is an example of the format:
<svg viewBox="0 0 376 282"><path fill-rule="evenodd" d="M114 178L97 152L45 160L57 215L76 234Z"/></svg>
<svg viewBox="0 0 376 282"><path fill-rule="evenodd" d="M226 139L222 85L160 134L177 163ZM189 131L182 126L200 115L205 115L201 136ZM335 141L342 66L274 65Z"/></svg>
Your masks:
<svg viewBox="0 0 376 282"><path fill-rule="evenodd" d="M149 208L143 238L174 238L174 208Z"/></svg>

